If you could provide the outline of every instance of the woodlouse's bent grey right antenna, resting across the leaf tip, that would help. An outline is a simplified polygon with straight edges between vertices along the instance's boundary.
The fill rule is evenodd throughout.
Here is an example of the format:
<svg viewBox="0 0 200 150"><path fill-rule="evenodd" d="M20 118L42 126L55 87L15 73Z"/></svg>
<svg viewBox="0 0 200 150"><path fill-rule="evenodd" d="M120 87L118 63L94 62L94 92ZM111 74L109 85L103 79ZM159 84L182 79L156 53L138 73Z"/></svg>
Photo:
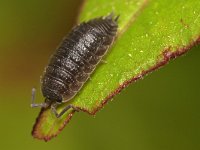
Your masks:
<svg viewBox="0 0 200 150"><path fill-rule="evenodd" d="M51 105L51 110L57 118L60 118L70 108L73 108L74 110L79 111L79 108L73 106L72 104L69 104L60 113L58 113L57 110L56 110L58 105L59 105L58 103L54 103L54 104Z"/></svg>

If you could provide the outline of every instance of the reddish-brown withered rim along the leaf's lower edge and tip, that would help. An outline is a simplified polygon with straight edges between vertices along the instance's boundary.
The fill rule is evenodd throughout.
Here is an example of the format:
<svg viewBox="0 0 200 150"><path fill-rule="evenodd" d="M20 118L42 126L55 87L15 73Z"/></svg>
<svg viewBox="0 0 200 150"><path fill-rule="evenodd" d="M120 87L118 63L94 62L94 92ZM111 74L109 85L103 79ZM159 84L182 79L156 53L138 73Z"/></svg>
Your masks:
<svg viewBox="0 0 200 150"><path fill-rule="evenodd" d="M132 79L130 80L127 80L125 81L123 84L121 84L115 91L111 92L103 101L102 103L97 106L97 108L92 111L92 112L89 112L88 110L86 109L81 109L82 111L84 112L87 112L91 115L95 115L97 111L99 111L110 99L112 99L116 94L120 93L125 87L127 87L130 83L133 83L135 82L136 80L138 79L141 79L142 77L144 77L145 75L153 72L154 70L156 69L159 69L160 67L166 65L171 59L174 59L178 56L181 56L183 54L185 54L188 50L190 50L193 46L195 45L198 45L200 44L200 36L198 38L196 38L196 40L190 42L190 44L188 46L184 46L182 48L177 48L177 51L175 52L171 52L171 47L169 46L168 48L164 49L163 52L162 52L162 59L159 60L157 62L157 64L155 66L152 66L149 70L144 70L142 71L141 74L133 77ZM37 134L37 130L35 130L38 126L40 126L39 122L40 120L42 120L42 114L43 114L43 109L41 110L37 120L36 120L36 123L34 125L34 128L33 128L33 131L32 131L32 135L33 137L35 138L38 138L38 139L41 139L41 140L45 140L45 141L49 141L51 138L57 136L61 131L62 129L65 127L65 125L70 121L70 119L72 118L73 114L75 113L75 111L71 112L69 115L68 115L68 118L66 118L65 122L63 123L63 125L60 127L59 131L52 135L52 136L40 136L40 134Z"/></svg>

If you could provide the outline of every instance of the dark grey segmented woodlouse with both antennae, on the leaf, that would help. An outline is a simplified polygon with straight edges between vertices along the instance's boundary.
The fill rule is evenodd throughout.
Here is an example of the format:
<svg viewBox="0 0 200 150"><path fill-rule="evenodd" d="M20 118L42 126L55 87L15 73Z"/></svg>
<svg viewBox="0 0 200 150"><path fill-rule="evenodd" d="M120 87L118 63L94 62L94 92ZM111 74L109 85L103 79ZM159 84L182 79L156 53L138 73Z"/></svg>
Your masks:
<svg viewBox="0 0 200 150"><path fill-rule="evenodd" d="M41 90L45 102L34 103L35 89L32 90L31 107L51 106L56 117L62 116L73 105L66 106L60 113L58 105L71 100L87 81L90 74L101 61L117 32L117 20L113 13L75 26L64 38L41 79Z"/></svg>

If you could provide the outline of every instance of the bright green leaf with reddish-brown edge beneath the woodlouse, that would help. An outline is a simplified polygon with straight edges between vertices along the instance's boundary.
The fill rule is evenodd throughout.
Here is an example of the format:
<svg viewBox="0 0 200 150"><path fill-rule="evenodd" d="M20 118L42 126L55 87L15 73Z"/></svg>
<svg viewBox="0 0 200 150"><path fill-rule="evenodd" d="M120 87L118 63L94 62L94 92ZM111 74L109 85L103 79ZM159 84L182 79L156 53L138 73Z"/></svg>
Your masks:
<svg viewBox="0 0 200 150"><path fill-rule="evenodd" d="M120 14L118 38L78 95L70 101L95 114L129 83L180 56L200 42L200 1L87 1L80 22L114 12ZM62 110L64 104L59 108ZM33 136L50 140L70 120L73 110L57 119L42 110Z"/></svg>

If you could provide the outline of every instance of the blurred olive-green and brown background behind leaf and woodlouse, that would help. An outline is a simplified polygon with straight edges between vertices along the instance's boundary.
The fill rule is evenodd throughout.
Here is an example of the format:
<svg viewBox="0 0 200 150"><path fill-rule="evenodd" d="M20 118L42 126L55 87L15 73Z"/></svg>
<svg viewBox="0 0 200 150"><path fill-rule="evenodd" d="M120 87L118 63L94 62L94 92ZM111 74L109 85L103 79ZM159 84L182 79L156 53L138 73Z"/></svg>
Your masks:
<svg viewBox="0 0 200 150"><path fill-rule="evenodd" d="M82 1L0 1L1 149L200 149L200 47L130 85L96 117L77 113L45 143L31 130L31 88L75 23Z"/></svg>

